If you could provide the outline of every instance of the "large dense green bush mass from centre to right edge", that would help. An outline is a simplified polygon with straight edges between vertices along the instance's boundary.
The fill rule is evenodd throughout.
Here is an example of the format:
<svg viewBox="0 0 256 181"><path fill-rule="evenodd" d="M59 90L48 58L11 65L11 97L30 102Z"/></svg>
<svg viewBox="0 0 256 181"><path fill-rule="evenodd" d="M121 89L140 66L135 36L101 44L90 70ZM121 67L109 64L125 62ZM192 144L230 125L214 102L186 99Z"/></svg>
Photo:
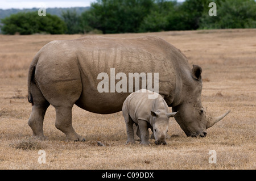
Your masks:
<svg viewBox="0 0 256 181"><path fill-rule="evenodd" d="M209 16L210 2L217 16ZM103 33L255 28L255 6L254 0L98 0L82 14L82 24L84 32Z"/></svg>

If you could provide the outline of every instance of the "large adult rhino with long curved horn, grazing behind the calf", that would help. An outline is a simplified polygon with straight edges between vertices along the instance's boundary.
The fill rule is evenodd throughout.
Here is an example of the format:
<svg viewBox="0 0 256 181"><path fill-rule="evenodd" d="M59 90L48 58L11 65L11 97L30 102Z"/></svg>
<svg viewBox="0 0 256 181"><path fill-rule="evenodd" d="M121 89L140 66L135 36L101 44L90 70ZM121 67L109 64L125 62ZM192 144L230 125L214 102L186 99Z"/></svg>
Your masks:
<svg viewBox="0 0 256 181"><path fill-rule="evenodd" d="M157 36L134 39L99 36L51 41L34 57L28 71L28 101L32 112L28 125L33 135L44 137L43 119L51 104L55 126L69 140L83 141L72 127L74 104L94 113L114 113L130 92L99 92L99 73L159 73L159 94L187 136L206 136L206 129L228 113L212 118L201 104L200 66L188 64L179 49ZM127 79L128 80L128 79ZM117 82L117 80L115 80ZM107 125L108 123L106 123Z"/></svg>

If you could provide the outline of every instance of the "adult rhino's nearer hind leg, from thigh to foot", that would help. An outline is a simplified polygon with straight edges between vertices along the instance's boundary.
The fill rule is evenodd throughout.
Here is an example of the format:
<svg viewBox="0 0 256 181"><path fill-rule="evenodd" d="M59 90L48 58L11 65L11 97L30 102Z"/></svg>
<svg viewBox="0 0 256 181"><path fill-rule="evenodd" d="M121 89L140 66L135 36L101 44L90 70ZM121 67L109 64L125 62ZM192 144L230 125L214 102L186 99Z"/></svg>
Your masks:
<svg viewBox="0 0 256 181"><path fill-rule="evenodd" d="M67 80L54 83L42 81L39 82L39 85L44 97L55 107L55 127L65 133L67 140L85 141L72 127L72 107L81 95L81 80L70 77Z"/></svg>

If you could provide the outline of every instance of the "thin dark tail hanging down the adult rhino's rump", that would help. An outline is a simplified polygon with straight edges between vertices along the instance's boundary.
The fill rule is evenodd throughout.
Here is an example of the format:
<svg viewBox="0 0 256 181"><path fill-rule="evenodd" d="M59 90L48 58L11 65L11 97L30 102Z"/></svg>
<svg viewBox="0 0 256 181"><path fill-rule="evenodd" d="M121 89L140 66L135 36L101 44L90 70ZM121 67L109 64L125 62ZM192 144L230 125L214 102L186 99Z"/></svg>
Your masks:
<svg viewBox="0 0 256 181"><path fill-rule="evenodd" d="M27 86L28 86L28 94L27 94L27 99L28 102L30 102L32 104L32 106L34 105L33 102L33 96L31 93L31 85L35 83L35 69L36 69L36 64L38 63L38 59L39 56L38 54L36 54L36 56L34 57L33 61L30 64L30 69L28 70L28 79L27 79Z"/></svg>

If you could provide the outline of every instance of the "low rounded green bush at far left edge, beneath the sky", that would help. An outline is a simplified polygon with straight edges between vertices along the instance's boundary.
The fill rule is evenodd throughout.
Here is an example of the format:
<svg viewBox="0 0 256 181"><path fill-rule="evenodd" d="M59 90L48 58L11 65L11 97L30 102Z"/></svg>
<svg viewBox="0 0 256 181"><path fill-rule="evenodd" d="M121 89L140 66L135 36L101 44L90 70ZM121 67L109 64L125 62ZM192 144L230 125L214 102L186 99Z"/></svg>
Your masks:
<svg viewBox="0 0 256 181"><path fill-rule="evenodd" d="M34 33L63 34L66 26L56 15L39 16L38 12L18 12L2 19L4 34L31 35Z"/></svg>

